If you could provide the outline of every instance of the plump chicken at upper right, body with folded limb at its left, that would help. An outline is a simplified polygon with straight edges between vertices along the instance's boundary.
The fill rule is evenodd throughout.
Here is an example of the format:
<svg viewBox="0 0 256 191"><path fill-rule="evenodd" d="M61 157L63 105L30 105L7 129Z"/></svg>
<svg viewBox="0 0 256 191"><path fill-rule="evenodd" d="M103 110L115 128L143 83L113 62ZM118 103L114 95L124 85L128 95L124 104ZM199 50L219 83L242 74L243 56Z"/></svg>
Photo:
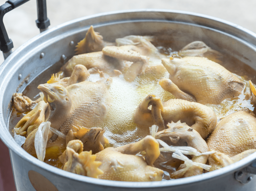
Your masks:
<svg viewBox="0 0 256 191"><path fill-rule="evenodd" d="M170 76L159 84L176 98L220 104L224 99L240 95L244 87L234 74L204 57L171 57L162 59L162 63Z"/></svg>

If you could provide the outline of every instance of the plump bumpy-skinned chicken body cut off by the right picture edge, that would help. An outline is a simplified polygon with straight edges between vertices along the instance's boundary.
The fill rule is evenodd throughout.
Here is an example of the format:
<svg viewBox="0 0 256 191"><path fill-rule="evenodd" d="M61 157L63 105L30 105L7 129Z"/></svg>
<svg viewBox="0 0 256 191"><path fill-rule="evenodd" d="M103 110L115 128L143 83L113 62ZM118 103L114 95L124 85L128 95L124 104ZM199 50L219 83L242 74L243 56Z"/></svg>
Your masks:
<svg viewBox="0 0 256 191"><path fill-rule="evenodd" d="M217 123L207 140L208 147L233 157L256 149L256 118L249 109L232 113Z"/></svg>

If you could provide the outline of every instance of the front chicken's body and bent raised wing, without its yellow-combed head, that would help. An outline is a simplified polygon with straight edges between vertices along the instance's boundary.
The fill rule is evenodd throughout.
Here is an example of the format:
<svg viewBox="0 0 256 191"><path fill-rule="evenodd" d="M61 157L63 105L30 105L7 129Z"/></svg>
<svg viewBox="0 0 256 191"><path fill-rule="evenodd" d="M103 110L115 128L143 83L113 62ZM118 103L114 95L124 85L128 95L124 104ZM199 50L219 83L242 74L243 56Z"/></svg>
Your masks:
<svg viewBox="0 0 256 191"><path fill-rule="evenodd" d="M145 151L145 159L135 154ZM117 181L160 181L163 171L149 166L159 157L159 144L151 136L121 147L108 147L96 154L104 173L99 178Z"/></svg>

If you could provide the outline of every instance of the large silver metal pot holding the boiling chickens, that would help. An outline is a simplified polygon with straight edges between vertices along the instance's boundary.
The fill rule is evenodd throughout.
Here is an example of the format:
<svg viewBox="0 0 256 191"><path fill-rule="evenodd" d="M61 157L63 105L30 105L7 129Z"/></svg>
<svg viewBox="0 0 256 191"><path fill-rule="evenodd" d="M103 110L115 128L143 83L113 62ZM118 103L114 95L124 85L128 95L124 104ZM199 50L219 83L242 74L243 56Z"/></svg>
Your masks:
<svg viewBox="0 0 256 191"><path fill-rule="evenodd" d="M201 14L151 9L119 11L83 17L40 33L15 50L0 66L0 138L9 147L17 190L255 190L255 178L248 172L255 173L251 164L256 160L256 153L194 177L134 183L76 175L45 164L25 152L8 129L12 94L17 87L22 92L29 83L34 87L44 83L45 75L36 77L49 67L57 70L59 63L74 55L75 44L84 38L90 25L109 41L128 34L162 32L179 38L181 47L193 40L202 40L256 70L256 34ZM35 78L37 83L33 85ZM36 93L31 93L30 97Z"/></svg>

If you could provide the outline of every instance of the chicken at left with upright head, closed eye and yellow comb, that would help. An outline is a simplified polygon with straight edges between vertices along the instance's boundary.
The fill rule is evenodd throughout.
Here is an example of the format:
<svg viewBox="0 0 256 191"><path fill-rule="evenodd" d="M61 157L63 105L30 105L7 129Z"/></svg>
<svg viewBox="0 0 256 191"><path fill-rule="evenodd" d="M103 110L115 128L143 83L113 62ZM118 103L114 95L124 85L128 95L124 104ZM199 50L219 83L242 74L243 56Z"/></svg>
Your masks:
<svg viewBox="0 0 256 191"><path fill-rule="evenodd" d="M54 80L53 80L54 81ZM100 125L107 117L111 103L108 88L111 78L98 82L80 82L67 86L59 82L39 85L44 93L50 112L45 121L51 122L51 127L66 135L72 126L92 128ZM32 110L33 111L33 110ZM26 116L24 116L26 117ZM32 131L25 140L24 149L34 155L34 136ZM49 132L47 148L53 146L65 147L65 140Z"/></svg>

